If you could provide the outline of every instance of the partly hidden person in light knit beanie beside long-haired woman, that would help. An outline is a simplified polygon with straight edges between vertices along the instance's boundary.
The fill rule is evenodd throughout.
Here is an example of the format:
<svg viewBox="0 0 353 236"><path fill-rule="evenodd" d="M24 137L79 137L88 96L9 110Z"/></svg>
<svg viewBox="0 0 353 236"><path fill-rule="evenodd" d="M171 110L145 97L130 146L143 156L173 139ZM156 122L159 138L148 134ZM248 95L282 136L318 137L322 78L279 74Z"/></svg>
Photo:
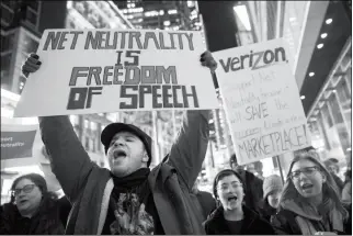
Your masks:
<svg viewBox="0 0 353 236"><path fill-rule="evenodd" d="M280 204L280 196L283 190L282 179L272 175L263 181L263 201L260 207L260 215L267 222L276 214Z"/></svg>

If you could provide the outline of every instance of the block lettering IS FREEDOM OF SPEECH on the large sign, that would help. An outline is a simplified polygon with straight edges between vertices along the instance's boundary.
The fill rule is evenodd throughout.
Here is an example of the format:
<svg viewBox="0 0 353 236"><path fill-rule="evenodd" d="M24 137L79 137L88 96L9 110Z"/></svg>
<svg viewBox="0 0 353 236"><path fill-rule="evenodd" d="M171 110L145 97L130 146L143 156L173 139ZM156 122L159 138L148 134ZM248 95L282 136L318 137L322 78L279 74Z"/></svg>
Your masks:
<svg viewBox="0 0 353 236"><path fill-rule="evenodd" d="M125 53L132 59L124 63L125 67L121 63L121 52L117 52L115 66L73 67L67 109L90 109L93 95L102 95L103 87L116 85L121 86L119 109L144 109L147 95L152 97L153 109L200 108L195 86L178 85L175 66L138 67L140 52ZM78 87L78 82L88 87Z"/></svg>

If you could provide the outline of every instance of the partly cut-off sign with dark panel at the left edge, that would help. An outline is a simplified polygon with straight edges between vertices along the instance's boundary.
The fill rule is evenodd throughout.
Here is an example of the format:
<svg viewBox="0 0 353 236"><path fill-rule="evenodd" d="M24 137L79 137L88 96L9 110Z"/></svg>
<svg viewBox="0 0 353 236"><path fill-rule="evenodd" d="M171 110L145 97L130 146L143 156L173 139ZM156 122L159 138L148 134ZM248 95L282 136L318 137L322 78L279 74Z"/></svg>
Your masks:
<svg viewBox="0 0 353 236"><path fill-rule="evenodd" d="M37 125L1 124L1 168L36 162L34 144L38 139Z"/></svg>

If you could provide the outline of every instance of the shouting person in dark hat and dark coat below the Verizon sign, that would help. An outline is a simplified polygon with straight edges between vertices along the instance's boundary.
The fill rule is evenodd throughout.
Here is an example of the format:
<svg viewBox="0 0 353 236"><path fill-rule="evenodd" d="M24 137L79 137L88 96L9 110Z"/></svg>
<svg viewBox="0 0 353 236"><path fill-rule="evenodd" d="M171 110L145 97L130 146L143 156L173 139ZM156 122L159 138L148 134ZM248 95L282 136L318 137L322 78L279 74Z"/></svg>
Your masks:
<svg viewBox="0 0 353 236"><path fill-rule="evenodd" d="M243 203L246 186L234 170L220 171L214 180L218 207L204 223L207 235L272 235L272 226Z"/></svg>

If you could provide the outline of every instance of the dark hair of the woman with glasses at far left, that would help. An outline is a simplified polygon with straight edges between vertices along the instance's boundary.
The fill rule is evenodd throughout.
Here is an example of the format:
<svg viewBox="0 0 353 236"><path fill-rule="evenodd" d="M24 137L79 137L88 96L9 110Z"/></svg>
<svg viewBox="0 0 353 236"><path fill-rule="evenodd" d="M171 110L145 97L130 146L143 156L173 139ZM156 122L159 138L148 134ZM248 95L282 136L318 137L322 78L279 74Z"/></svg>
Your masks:
<svg viewBox="0 0 353 236"><path fill-rule="evenodd" d="M44 199L55 199L55 200L58 199L57 194L48 191L45 179L38 173L27 173L27 175L23 175L23 176L18 177L11 186L11 190L14 190L14 188L18 186L18 183L23 179L31 180L35 186L38 187L38 189L42 192L43 200ZM14 203L14 195L13 194L11 194L10 203Z"/></svg>

